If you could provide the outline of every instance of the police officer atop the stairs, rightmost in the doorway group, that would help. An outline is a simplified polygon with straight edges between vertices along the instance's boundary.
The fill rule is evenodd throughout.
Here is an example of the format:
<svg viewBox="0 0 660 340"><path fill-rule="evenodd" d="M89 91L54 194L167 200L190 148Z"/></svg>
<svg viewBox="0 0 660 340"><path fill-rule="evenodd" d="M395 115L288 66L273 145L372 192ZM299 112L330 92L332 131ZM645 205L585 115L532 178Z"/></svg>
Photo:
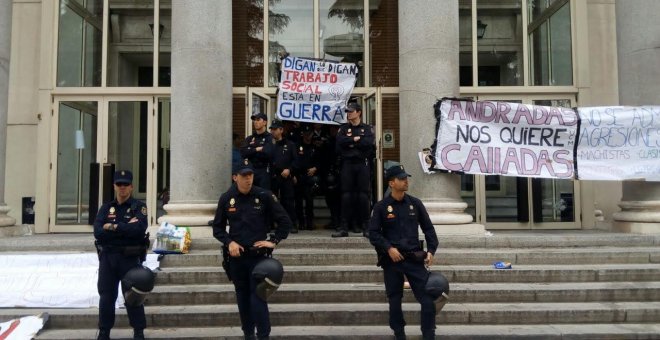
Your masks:
<svg viewBox="0 0 660 340"><path fill-rule="evenodd" d="M341 221L332 237L348 236L348 225L353 220L367 236L369 223L369 192L371 190L370 158L374 149L374 130L361 122L362 107L358 103L346 106L348 123L337 132L337 150L341 166ZM354 232L360 232L356 227Z"/></svg>

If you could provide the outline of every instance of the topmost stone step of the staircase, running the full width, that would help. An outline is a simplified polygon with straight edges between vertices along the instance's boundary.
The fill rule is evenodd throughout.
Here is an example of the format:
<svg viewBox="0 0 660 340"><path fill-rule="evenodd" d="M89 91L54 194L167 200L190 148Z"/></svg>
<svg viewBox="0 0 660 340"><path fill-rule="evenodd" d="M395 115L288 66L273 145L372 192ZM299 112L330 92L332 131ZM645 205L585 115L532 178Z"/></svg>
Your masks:
<svg viewBox="0 0 660 340"><path fill-rule="evenodd" d="M210 227L201 227L210 228ZM210 229L209 229L210 230ZM367 239L354 237L330 238L330 230L303 231L291 234L282 242L284 248L369 248ZM152 233L152 237L155 234ZM493 236L440 235L442 248L581 248L581 247L653 247L660 245L660 235L635 235L602 231L495 231ZM94 236L85 234L38 234L0 238L5 252L93 252ZM193 239L192 249L219 249L220 243L211 237Z"/></svg>

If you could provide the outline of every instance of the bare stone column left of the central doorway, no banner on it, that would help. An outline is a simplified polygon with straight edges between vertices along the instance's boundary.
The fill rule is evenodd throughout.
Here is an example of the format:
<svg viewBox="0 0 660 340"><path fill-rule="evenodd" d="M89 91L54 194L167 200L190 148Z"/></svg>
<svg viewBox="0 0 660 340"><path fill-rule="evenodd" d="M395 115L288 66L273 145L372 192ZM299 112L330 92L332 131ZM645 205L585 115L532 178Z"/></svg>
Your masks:
<svg viewBox="0 0 660 340"><path fill-rule="evenodd" d="M159 222L210 235L231 181L231 1L172 1L170 203Z"/></svg>

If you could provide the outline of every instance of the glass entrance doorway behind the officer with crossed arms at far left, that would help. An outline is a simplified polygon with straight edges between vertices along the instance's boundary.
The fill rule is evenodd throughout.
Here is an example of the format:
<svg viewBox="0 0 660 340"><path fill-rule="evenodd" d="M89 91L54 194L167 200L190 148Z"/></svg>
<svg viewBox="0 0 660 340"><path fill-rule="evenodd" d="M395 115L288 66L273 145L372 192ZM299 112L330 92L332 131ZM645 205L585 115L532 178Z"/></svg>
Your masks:
<svg viewBox="0 0 660 340"><path fill-rule="evenodd" d="M167 97L62 97L53 112L50 232L89 232L114 199L115 170L133 172L133 197L156 224L169 187Z"/></svg>

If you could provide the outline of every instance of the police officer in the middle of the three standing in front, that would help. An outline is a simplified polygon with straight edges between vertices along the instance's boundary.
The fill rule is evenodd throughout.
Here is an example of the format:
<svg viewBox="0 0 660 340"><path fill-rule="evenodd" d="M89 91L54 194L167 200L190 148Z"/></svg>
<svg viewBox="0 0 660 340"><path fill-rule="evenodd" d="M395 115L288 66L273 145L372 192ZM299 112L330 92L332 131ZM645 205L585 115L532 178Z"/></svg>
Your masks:
<svg viewBox="0 0 660 340"><path fill-rule="evenodd" d="M247 160L234 168L232 179L234 184L218 201L213 236L228 248L229 274L245 339L268 339L268 304L256 294L252 270L288 236L291 219L275 195L253 185L254 169ZM277 229L267 238L273 222Z"/></svg>

